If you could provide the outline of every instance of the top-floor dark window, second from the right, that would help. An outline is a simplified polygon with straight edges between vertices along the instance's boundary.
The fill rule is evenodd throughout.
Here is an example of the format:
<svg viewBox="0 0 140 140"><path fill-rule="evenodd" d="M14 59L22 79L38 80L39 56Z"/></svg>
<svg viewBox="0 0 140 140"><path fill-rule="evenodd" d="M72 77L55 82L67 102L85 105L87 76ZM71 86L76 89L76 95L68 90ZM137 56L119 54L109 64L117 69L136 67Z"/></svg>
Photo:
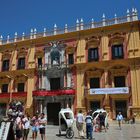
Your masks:
<svg viewBox="0 0 140 140"><path fill-rule="evenodd" d="M98 61L99 60L99 54L98 54L98 48L90 48L88 50L88 61Z"/></svg>

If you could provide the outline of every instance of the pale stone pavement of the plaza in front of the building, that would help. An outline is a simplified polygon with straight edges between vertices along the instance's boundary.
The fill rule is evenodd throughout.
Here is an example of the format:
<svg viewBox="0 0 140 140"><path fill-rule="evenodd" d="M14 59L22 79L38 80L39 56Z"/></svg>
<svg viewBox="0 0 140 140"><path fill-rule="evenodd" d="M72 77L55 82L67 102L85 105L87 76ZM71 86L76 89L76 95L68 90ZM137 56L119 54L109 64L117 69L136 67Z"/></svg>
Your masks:
<svg viewBox="0 0 140 140"><path fill-rule="evenodd" d="M46 137L47 140L66 140L65 135L58 136L59 126L47 125ZM77 129L74 127L75 136L72 140L79 140ZM118 124L115 122L110 123L110 127L105 133L94 132L95 140L140 140L140 124L123 124L122 129L118 128ZM29 134L29 140L31 140L31 132ZM37 140L40 139L38 134Z"/></svg>

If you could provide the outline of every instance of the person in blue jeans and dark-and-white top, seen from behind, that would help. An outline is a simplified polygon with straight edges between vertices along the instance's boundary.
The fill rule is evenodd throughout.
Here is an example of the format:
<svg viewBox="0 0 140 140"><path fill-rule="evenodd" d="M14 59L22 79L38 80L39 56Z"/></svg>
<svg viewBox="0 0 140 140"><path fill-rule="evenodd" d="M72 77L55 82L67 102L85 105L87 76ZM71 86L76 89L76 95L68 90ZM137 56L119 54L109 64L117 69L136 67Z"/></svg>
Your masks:
<svg viewBox="0 0 140 140"><path fill-rule="evenodd" d="M87 139L92 139L92 135L93 135L93 118L90 115L90 112L87 113L86 118L85 118L85 122L86 122L86 137Z"/></svg>

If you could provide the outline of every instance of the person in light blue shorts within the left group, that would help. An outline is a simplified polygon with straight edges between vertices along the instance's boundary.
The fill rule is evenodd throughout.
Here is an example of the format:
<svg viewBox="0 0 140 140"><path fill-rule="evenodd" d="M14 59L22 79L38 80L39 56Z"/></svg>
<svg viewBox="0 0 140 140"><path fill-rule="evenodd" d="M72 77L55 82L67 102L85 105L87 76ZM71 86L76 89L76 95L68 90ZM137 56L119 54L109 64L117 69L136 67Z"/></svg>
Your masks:
<svg viewBox="0 0 140 140"><path fill-rule="evenodd" d="M36 140L37 133L39 131L39 120L38 115L34 115L31 119L31 126L32 126L32 138L33 140Z"/></svg>

